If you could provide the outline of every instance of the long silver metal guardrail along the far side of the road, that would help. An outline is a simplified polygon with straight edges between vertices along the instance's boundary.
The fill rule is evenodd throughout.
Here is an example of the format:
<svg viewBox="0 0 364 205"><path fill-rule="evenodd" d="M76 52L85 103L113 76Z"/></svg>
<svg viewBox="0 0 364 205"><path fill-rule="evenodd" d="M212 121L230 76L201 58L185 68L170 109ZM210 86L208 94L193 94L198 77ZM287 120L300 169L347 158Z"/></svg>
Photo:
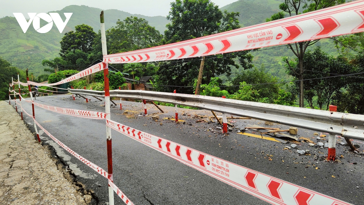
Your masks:
<svg viewBox="0 0 364 205"><path fill-rule="evenodd" d="M103 91L69 89L73 94L103 97ZM110 90L110 97L134 98L167 102L242 117L272 121L319 132L364 140L364 115L331 112L285 105L232 100L192 94L153 92L144 90Z"/></svg>

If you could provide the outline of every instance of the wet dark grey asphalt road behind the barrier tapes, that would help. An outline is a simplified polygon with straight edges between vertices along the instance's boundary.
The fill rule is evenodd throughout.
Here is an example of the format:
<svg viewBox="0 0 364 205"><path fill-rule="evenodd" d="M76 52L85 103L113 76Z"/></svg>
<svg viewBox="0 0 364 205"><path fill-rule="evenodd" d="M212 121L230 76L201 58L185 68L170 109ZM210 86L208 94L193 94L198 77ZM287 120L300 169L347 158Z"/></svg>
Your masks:
<svg viewBox="0 0 364 205"><path fill-rule="evenodd" d="M73 101L71 95L37 97L35 101L56 107L104 112L103 102L92 97L90 103L79 97ZM158 112L153 105L147 104L147 107L150 114ZM139 113L142 106L139 102L123 101L123 111L119 110L119 105L111 108L111 119L340 200L363 204L364 155L347 152L347 146L337 145L337 156L343 155L343 158L338 158L338 162L326 162L324 159L327 148L309 147L308 143L302 142L298 146L302 146L300 149L311 150L311 155L298 155L293 148L284 150L284 147L291 143L282 144L240 135L236 133L237 129L226 136L209 132L207 129L218 124L196 123L197 119L193 118L195 113L211 115L205 110L181 108L179 119L185 120L186 124L163 120L163 124L160 125L163 117L174 116L173 107L161 107L168 112L159 115L158 122L152 120L150 115L128 118L131 116L123 115L123 111L130 110L129 114L133 113L131 111ZM23 102L23 108L29 114L32 113L30 103ZM182 111L191 117L182 116ZM23 116L26 123L32 123L30 117L25 114ZM107 170L104 120L62 115L36 106L35 116L36 120L61 142ZM233 124L239 127L245 127L246 124L264 124L263 121L254 119L236 121ZM266 126L268 125L264 125ZM272 127L287 128L277 124ZM34 132L32 125L29 125L29 128ZM313 138L317 136L313 136L313 132L299 129L298 135L312 138L316 142ZM69 166L76 180L83 183L86 189L95 192L95 204L107 204L107 180L66 153L46 134L40 134L45 144L55 148L55 157L62 159ZM364 144L356 144L359 144L359 149L363 151ZM112 153L114 183L134 204L267 204L114 130ZM272 160L268 160L268 156ZM116 194L115 204L123 204Z"/></svg>

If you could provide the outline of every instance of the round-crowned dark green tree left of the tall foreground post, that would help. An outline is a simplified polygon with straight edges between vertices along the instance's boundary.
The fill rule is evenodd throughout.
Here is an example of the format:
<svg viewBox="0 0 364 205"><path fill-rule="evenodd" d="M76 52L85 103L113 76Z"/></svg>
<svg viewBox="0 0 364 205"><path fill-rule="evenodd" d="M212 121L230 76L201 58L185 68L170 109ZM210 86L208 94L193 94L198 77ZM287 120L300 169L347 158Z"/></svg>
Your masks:
<svg viewBox="0 0 364 205"><path fill-rule="evenodd" d="M92 45L96 33L91 26L81 24L75 26L75 31L64 34L59 51L60 57L53 60L43 60L43 66L49 66L53 69L62 67L64 69L83 70L90 65L89 55L92 51ZM45 71L51 71L45 69Z"/></svg>

